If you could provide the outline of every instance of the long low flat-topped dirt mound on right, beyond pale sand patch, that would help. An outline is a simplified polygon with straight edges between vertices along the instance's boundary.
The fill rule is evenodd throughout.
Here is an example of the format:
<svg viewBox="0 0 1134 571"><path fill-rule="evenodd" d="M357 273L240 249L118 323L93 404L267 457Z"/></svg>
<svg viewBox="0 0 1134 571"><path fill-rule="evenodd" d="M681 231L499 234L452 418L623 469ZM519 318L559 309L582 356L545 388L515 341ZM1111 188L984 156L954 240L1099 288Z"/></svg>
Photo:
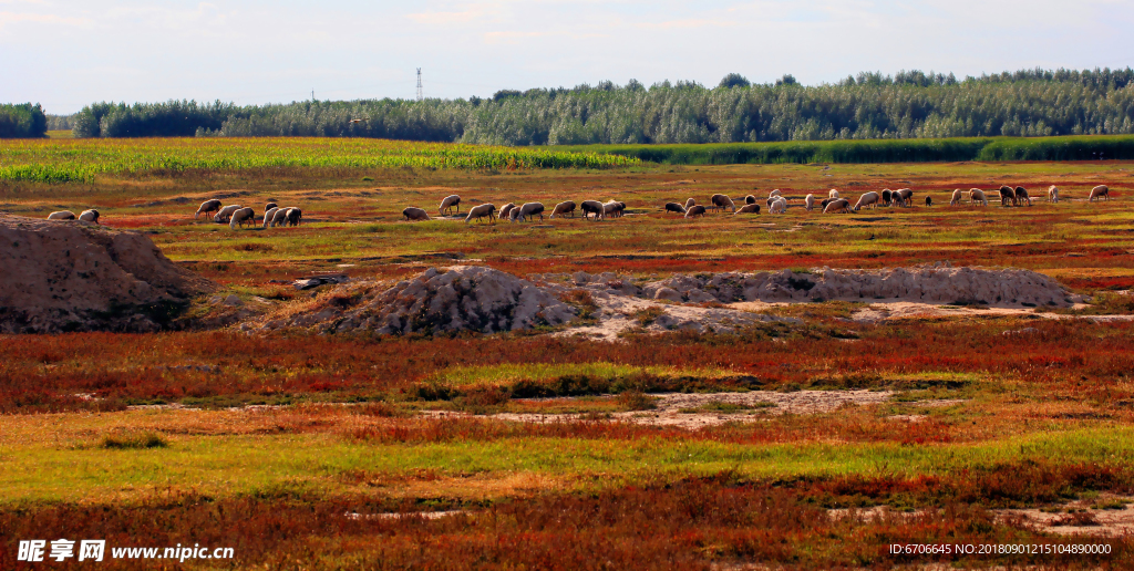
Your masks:
<svg viewBox="0 0 1134 571"><path fill-rule="evenodd" d="M904 300L989 306L1069 307L1070 293L1029 270L951 267L947 264L886 270L792 270L756 274L677 274L642 286L646 297L671 301Z"/></svg>

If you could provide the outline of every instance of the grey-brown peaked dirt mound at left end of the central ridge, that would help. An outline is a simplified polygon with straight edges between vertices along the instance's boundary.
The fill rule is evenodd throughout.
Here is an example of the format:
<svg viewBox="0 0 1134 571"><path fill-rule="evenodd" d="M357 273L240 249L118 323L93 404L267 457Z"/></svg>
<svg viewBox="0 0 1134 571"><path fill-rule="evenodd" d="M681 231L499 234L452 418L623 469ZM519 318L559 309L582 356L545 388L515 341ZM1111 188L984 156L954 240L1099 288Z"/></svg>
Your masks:
<svg viewBox="0 0 1134 571"><path fill-rule="evenodd" d="M569 322L576 309L515 275L484 266L429 269L420 276L378 290L373 284L342 286L291 316L263 329L314 327L324 332L497 333Z"/></svg>

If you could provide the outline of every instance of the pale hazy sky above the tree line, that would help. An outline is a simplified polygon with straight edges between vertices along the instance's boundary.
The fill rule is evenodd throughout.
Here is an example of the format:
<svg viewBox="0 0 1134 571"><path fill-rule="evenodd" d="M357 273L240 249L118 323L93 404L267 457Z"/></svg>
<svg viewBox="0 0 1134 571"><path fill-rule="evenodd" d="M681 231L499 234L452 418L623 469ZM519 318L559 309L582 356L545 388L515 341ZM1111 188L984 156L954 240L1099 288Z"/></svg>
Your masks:
<svg viewBox="0 0 1134 571"><path fill-rule="evenodd" d="M0 102L490 96L737 73L1134 67L1131 0L0 0Z"/></svg>

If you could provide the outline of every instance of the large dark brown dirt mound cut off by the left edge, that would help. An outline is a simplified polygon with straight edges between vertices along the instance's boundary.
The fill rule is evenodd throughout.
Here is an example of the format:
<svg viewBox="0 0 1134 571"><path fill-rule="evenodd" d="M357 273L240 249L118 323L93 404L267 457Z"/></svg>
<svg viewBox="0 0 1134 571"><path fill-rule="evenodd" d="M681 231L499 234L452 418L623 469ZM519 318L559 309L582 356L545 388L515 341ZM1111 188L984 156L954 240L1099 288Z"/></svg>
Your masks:
<svg viewBox="0 0 1134 571"><path fill-rule="evenodd" d="M210 281L135 232L0 214L0 332L158 331Z"/></svg>

